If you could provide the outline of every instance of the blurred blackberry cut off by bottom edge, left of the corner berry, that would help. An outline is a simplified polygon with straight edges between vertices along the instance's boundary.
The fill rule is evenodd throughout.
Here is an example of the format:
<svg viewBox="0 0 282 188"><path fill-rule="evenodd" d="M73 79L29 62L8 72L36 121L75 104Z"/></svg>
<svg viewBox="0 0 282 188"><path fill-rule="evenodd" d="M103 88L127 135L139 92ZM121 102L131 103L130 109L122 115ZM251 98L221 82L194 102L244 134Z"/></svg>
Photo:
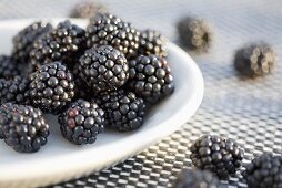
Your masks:
<svg viewBox="0 0 282 188"><path fill-rule="evenodd" d="M219 179L210 171L199 169L183 169L173 186L174 188L216 188Z"/></svg>

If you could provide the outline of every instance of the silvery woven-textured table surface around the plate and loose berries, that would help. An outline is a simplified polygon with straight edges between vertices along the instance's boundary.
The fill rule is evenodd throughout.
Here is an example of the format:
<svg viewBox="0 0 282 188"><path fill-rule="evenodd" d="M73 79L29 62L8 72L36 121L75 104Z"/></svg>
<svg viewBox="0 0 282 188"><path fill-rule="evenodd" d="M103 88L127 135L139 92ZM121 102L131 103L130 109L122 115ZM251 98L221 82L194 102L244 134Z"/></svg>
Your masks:
<svg viewBox="0 0 282 188"><path fill-rule="evenodd" d="M68 17L78 0L1 0L0 20ZM189 144L202 134L238 140L249 161L263 152L281 154L282 66L265 77L245 80L233 69L234 51L248 42L266 41L282 55L282 1L244 0L103 0L109 10L140 29L160 30L177 42L175 22L187 14L213 24L214 43L207 54L190 55L205 84L203 103L181 129L110 169L56 185L61 187L171 187L175 175L191 166ZM238 174L226 187L246 187Z"/></svg>

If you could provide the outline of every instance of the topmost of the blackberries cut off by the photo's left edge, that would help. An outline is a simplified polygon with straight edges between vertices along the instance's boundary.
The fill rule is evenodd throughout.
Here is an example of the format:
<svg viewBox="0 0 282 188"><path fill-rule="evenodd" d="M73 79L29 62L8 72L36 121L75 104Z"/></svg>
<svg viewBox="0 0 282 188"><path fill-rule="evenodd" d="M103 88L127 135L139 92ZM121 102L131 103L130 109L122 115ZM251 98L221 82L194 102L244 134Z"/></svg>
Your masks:
<svg viewBox="0 0 282 188"><path fill-rule="evenodd" d="M0 79L12 79L21 75L20 67L11 56L0 55Z"/></svg>

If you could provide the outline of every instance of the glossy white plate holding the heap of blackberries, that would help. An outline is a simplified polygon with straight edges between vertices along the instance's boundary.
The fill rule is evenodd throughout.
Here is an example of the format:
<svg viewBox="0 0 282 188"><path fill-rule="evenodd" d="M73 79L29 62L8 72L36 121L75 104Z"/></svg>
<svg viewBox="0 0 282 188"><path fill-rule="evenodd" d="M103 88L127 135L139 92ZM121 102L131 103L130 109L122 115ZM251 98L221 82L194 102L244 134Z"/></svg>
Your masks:
<svg viewBox="0 0 282 188"><path fill-rule="evenodd" d="M32 21L0 22L0 53L9 54L11 38ZM51 21L58 23L59 19ZM72 21L80 27L87 24L83 20ZM172 43L169 63L175 92L155 106L135 132L107 132L93 145L75 146L61 137L57 118L48 116L51 135L38 153L19 154L0 140L0 187L43 186L81 177L124 160L180 128L200 106L203 79L195 62Z"/></svg>

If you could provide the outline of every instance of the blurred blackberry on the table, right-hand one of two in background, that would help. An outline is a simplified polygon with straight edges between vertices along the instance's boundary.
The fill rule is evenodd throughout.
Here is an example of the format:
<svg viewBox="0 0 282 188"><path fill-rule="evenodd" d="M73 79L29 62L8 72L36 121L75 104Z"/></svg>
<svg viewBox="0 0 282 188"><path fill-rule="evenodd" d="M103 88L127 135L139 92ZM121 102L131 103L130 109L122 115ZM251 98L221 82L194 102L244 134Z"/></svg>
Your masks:
<svg viewBox="0 0 282 188"><path fill-rule="evenodd" d="M266 43L250 44L235 53L235 69L246 76L270 73L275 64L275 53Z"/></svg>

